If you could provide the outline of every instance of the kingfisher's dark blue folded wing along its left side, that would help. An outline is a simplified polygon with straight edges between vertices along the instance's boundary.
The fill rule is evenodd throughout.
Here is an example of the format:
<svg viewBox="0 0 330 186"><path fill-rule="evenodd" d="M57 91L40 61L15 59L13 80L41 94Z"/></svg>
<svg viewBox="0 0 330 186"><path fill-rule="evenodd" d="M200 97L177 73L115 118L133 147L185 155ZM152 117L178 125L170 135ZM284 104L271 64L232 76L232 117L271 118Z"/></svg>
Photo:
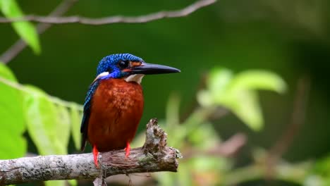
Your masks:
<svg viewBox="0 0 330 186"><path fill-rule="evenodd" d="M80 126L80 132L82 133L81 147L80 147L81 151L83 151L86 146L88 122L90 120L90 110L92 107L92 98L98 86L99 86L99 79L92 82L92 85L90 85L90 88L88 89L87 92L87 96L85 98L84 114L82 116L82 121Z"/></svg>

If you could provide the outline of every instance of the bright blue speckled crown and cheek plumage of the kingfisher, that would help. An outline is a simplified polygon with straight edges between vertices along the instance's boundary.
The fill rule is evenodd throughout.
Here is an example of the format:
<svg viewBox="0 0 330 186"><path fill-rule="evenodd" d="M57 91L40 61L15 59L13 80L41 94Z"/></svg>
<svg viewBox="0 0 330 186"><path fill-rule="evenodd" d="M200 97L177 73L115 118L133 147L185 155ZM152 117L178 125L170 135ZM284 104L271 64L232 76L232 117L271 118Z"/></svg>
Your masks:
<svg viewBox="0 0 330 186"><path fill-rule="evenodd" d="M120 78L128 75L128 73L121 71L118 64L121 61L143 61L142 58L134 56L132 54L112 54L102 58L99 61L99 65L97 66L97 75L109 72L112 78Z"/></svg>

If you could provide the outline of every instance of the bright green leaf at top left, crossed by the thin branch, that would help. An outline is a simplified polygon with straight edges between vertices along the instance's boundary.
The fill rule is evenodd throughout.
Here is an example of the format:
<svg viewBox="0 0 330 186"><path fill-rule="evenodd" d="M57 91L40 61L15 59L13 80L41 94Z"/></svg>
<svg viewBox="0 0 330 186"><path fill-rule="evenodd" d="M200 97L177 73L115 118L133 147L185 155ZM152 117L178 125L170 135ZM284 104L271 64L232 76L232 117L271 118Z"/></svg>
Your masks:
<svg viewBox="0 0 330 186"><path fill-rule="evenodd" d="M24 16L15 0L0 0L0 9L6 18L21 18ZM35 26L27 21L14 22L11 25L35 54L40 54L39 37Z"/></svg>

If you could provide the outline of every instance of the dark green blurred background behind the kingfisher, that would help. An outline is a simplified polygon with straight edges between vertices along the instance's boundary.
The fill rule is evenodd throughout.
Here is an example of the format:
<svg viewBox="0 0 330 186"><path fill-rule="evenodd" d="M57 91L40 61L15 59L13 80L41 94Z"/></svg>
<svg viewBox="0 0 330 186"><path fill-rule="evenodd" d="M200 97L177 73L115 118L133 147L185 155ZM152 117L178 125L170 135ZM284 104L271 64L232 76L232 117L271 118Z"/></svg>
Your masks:
<svg viewBox="0 0 330 186"><path fill-rule="evenodd" d="M30 0L18 4L25 14L47 15L60 2ZM66 15L138 16L193 2L79 0ZM106 55L131 53L148 63L181 69L179 74L144 78L145 111L140 130L149 118L165 117L166 101L173 92L182 99L182 116L187 113L195 103L203 75L214 66L234 72L271 70L288 83L288 91L282 95L261 92L263 130L250 130L233 114L213 122L224 139L237 132L247 134L238 164L250 161L248 147L269 149L279 139L291 118L298 79L307 76L311 87L306 120L283 156L291 162L319 159L330 151L329 5L326 0L222 0L184 18L140 24L53 25L40 36L40 55L25 49L8 67L20 83L36 85L48 94L80 104L94 80L97 63ZM0 24L0 30L3 52L19 37L9 24ZM252 183L257 184L264 185Z"/></svg>

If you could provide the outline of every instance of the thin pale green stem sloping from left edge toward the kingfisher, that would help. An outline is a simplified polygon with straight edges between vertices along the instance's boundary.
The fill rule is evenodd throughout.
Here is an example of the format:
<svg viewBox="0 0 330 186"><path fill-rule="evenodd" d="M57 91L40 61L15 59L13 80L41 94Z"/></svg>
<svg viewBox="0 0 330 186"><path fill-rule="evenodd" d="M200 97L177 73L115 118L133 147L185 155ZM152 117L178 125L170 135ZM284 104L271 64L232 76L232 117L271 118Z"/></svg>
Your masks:
<svg viewBox="0 0 330 186"><path fill-rule="evenodd" d="M30 91L30 89L24 87L24 85L21 85L18 82L11 82L9 80L4 79L4 77L0 77L0 82L3 83L4 85L8 85L9 87L13 87L14 89L18 89L22 92L26 92L27 94L31 94L34 97L47 97L47 99L50 99L55 104L59 104L61 106L66 106L70 108L71 106L73 106L73 104L75 104L74 102L64 101L63 99L59 99L58 97L53 97L49 94L36 94L35 92ZM79 111L82 111L82 105L80 104L75 104L75 105Z"/></svg>

